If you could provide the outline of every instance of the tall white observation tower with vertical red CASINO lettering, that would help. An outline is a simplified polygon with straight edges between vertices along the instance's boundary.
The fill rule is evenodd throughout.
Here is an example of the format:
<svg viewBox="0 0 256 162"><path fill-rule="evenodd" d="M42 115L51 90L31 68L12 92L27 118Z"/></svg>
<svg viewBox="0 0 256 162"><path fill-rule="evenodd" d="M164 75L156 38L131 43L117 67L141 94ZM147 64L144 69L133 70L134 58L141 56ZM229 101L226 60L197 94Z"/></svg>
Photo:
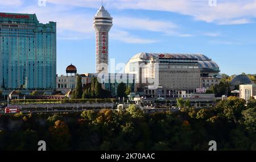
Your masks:
<svg viewBox="0 0 256 162"><path fill-rule="evenodd" d="M112 27L112 17L103 6L94 16L93 27L96 31L96 73L108 73L109 64L109 30Z"/></svg>

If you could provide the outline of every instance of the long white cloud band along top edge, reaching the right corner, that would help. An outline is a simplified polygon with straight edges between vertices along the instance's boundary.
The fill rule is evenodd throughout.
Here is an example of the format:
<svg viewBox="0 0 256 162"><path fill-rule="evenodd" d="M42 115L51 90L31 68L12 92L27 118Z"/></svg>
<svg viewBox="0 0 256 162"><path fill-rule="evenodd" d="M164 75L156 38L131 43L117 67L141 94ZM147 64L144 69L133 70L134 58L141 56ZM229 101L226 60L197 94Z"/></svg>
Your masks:
<svg viewBox="0 0 256 162"><path fill-rule="evenodd" d="M101 5L101 0L47 0L47 2L92 8ZM105 1L104 5L108 9L169 11L216 24L251 23L250 19L256 17L256 0L217 0L216 7L210 7L208 2L208 0L109 0Z"/></svg>

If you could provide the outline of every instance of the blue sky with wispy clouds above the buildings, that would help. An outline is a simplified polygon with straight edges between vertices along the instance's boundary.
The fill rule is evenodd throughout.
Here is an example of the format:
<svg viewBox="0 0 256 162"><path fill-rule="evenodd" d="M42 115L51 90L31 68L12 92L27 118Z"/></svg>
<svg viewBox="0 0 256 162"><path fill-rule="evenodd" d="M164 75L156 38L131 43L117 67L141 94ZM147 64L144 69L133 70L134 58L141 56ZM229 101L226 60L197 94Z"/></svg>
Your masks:
<svg viewBox="0 0 256 162"><path fill-rule="evenodd" d="M214 0L210 0L214 1ZM0 12L36 14L57 22L57 73L69 64L78 73L95 71L93 16L101 0L0 0ZM256 1L105 0L113 19L109 59L127 61L139 52L201 53L221 73L256 73Z"/></svg>

